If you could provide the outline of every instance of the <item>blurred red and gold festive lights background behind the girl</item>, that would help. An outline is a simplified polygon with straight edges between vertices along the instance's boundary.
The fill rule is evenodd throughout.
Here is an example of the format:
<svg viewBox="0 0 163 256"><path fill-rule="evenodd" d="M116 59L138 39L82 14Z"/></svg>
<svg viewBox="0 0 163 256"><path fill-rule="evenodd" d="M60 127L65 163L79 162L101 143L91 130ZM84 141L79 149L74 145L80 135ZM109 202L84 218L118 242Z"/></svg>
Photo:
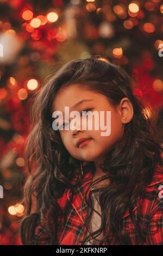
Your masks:
<svg viewBox="0 0 163 256"><path fill-rule="evenodd" d="M0 0L0 244L21 245L29 106L49 72L92 54L121 65L163 141L161 0Z"/></svg>

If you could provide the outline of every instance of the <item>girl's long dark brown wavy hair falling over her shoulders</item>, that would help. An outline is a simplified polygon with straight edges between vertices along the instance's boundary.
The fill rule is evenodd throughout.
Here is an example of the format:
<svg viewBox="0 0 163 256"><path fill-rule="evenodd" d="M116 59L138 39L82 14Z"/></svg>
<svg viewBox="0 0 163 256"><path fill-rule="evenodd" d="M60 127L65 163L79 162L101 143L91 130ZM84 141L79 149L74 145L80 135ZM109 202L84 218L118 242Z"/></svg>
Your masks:
<svg viewBox="0 0 163 256"><path fill-rule="evenodd" d="M25 150L30 174L24 185L23 204L26 212L21 221L22 243L32 244L37 224L44 220L47 233L51 234L50 243L57 245L59 220L62 216L57 199L64 194L66 188L71 189L70 199L73 199L74 185L71 179L76 174L80 175L80 161L68 153L59 131L52 128L53 99L61 88L72 83L84 84L90 90L107 96L113 106L118 105L123 97L128 97L134 109L133 119L125 125L121 141L111 148L101 166L106 173L105 179L110 181L108 187L98 189L101 192L101 227L91 233L91 214L88 215L85 225L90 234L84 237L82 243L95 238L109 227L118 245L130 245L130 237L122 228L122 217L129 209L136 229L136 244L139 244L145 239L145 235L140 228L139 218L135 219L132 210L137 197L145 192L146 186L152 181L156 166L162 166L162 148L152 135L152 125L145 106L133 94L130 77L120 66L111 64L101 56L74 59L62 65L35 94L30 110L32 122ZM88 169L95 170L94 162L82 164L84 172ZM82 176L80 177L76 185L80 184ZM99 178L97 181L103 179ZM91 186L93 184L95 182L92 182ZM93 202L92 198L90 200ZM89 202L87 204L92 208ZM99 244L102 245L103 242L109 245L109 236L104 236Z"/></svg>

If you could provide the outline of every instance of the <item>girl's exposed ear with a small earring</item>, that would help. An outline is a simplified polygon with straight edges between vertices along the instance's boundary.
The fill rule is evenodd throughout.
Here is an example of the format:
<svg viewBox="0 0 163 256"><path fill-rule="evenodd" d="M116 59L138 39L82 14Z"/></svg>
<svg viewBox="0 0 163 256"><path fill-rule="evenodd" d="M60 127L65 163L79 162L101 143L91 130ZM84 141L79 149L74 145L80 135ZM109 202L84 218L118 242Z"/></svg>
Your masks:
<svg viewBox="0 0 163 256"><path fill-rule="evenodd" d="M123 124L131 121L134 115L133 105L127 97L124 97L119 103L119 111Z"/></svg>

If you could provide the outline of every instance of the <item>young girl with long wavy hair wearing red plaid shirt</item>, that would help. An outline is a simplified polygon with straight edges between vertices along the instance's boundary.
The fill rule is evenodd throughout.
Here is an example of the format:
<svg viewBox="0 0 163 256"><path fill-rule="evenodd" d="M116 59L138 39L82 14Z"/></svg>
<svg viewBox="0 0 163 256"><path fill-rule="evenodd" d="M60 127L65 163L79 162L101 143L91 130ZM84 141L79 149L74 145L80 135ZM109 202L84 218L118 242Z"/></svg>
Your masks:
<svg viewBox="0 0 163 256"><path fill-rule="evenodd" d="M78 127L54 130L65 106ZM84 130L83 111L110 111L110 134ZM124 70L100 56L63 65L32 108L23 245L163 245L161 153Z"/></svg>

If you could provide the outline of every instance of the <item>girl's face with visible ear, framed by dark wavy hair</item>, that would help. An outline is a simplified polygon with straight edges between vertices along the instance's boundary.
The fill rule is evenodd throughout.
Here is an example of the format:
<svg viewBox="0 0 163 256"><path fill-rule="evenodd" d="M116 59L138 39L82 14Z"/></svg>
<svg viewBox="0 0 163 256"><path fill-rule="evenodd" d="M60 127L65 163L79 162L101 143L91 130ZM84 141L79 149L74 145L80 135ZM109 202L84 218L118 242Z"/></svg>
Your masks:
<svg viewBox="0 0 163 256"><path fill-rule="evenodd" d="M83 101L76 107L79 101ZM97 92L85 89L78 84L71 84L59 91L53 101L53 112L61 111L63 114L63 122L61 124L70 124L73 118L68 116L69 120L65 120L65 106L69 107L69 112L78 111L80 112L80 122L78 119L77 129L59 130L61 139L67 151L74 158L81 161L99 161L104 159L105 154L111 149L111 147L123 136L123 124L129 123L133 117L133 107L128 98L123 98L118 106L114 107L109 103L108 98ZM101 126L95 130L95 122L92 123L92 129L82 130L82 111L86 111L87 117L89 118L89 109L91 112L97 111L100 115L100 111L104 113L104 124L106 125L106 111L111 111L111 133L109 136L101 136ZM126 118L126 121L123 120ZM88 119L87 119L88 120ZM92 119L93 120L93 119ZM76 143L80 138L91 138L89 143L83 145L83 147L77 147Z"/></svg>

